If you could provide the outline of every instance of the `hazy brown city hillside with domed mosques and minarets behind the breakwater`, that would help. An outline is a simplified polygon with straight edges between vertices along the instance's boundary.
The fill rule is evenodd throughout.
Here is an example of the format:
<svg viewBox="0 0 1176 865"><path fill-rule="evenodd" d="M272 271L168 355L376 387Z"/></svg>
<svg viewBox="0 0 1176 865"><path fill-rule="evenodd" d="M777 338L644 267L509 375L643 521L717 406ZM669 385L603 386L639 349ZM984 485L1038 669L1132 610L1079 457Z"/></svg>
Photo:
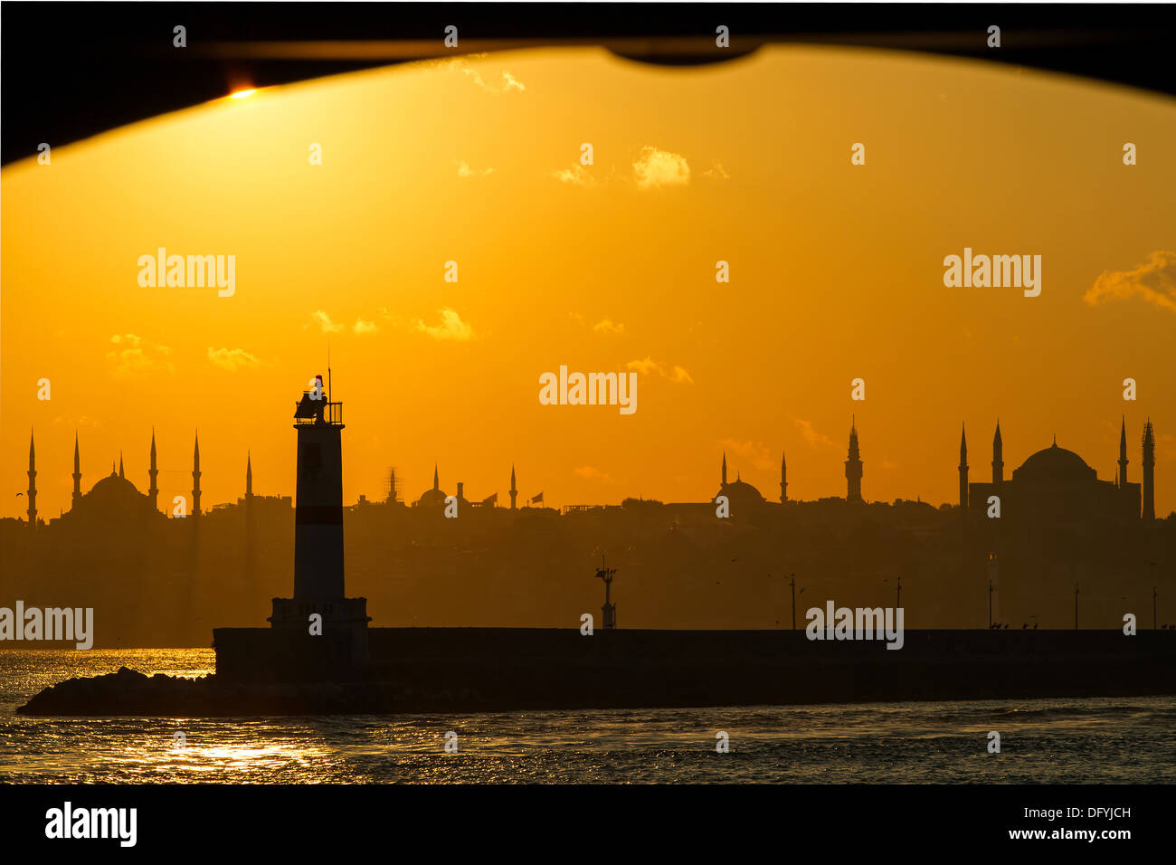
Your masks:
<svg viewBox="0 0 1176 865"><path fill-rule="evenodd" d="M336 447L310 444L322 453ZM450 493L439 465L432 486L409 501L390 472L386 498L360 495L341 506L346 539L327 547L342 550L348 584L387 617L381 625L564 625L569 616L599 608L597 587L583 573L604 551L623 568L617 585L633 627L779 627L787 621L780 577L787 573L810 592L862 604L891 601L901 574L911 627L984 627L990 584L998 618L1028 627L1073 627L1075 583L1090 627L1121 626L1122 599L1136 595L1140 620L1150 621L1152 587L1161 597L1176 591L1176 519L1155 518L1150 420L1138 470L1123 421L1115 480L1100 479L1056 440L1005 477L1000 424L991 480L973 480L965 431L960 445L958 504L937 508L863 495L856 418L844 495L815 501L789 498L783 454L775 501L737 472L731 480L726 454L719 490L707 499L624 499L559 511L521 505L512 465L509 506L497 505L496 492L467 500L459 481L457 519L445 517ZM42 606L93 606L99 646L205 645L212 621L246 626L279 614L270 599L289 591L300 528L303 544L319 541L306 540L306 526L295 524L292 497L254 492L252 454L243 497L207 507L195 437L192 497L181 519L178 506L160 510L154 433L146 493L121 465L83 493L81 451L75 435L71 507L46 520L38 511L31 437L26 519L0 519L6 594ZM1141 481L1130 480L1132 471ZM720 495L728 499L729 519L716 517Z"/></svg>

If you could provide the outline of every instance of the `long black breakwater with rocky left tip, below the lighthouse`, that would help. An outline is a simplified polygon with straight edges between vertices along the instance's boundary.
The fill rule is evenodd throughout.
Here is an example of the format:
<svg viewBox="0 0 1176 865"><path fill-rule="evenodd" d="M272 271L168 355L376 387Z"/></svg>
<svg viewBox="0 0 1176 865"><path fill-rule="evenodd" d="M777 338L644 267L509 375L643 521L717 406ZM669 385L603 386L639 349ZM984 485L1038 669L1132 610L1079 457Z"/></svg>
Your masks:
<svg viewBox="0 0 1176 865"><path fill-rule="evenodd" d="M352 681L148 678L123 667L45 688L16 712L274 717L1176 694L1176 633L1156 631L907 631L897 651L802 631L373 628L373 661Z"/></svg>

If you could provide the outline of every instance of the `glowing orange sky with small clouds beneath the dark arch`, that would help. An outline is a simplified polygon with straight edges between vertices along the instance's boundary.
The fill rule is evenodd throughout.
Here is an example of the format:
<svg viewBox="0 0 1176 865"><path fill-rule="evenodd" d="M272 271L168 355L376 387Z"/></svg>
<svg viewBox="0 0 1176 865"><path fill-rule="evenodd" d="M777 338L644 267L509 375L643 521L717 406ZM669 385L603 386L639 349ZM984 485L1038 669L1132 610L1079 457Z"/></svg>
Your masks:
<svg viewBox="0 0 1176 865"><path fill-rule="evenodd" d="M68 506L75 430L85 490L120 448L146 488L154 426L160 500L186 494L199 426L205 506L241 494L247 447L255 491L293 493L294 401L328 340L348 503L382 497L389 465L415 498L434 460L442 488L500 504L512 461L552 505L697 501L723 450L768 498L782 450L793 498L843 495L856 414L866 498L937 504L961 421L974 480L997 415L1007 472L1056 432L1112 479L1125 412L1130 480L1156 425L1167 514L1174 141L1172 100L1125 88L773 48L377 69L58 147L0 174L0 515L26 507L31 426L46 517ZM161 246L234 254L234 295L140 287ZM965 246L1042 255L1041 297L944 287ZM640 370L636 413L540 405L560 365Z"/></svg>

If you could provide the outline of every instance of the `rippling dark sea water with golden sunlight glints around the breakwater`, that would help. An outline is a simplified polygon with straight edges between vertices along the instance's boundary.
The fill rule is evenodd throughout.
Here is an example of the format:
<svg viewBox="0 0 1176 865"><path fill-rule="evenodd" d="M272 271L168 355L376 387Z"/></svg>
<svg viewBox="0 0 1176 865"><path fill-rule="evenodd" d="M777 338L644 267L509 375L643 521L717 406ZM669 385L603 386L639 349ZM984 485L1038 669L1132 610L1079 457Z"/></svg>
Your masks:
<svg viewBox="0 0 1176 865"><path fill-rule="evenodd" d="M393 717L14 714L47 685L120 666L205 676L213 652L0 652L0 783L1176 780L1169 697ZM987 752L990 730L1001 732L1001 754ZM452 754L449 731L459 743ZM730 736L730 753L716 753L719 731Z"/></svg>

